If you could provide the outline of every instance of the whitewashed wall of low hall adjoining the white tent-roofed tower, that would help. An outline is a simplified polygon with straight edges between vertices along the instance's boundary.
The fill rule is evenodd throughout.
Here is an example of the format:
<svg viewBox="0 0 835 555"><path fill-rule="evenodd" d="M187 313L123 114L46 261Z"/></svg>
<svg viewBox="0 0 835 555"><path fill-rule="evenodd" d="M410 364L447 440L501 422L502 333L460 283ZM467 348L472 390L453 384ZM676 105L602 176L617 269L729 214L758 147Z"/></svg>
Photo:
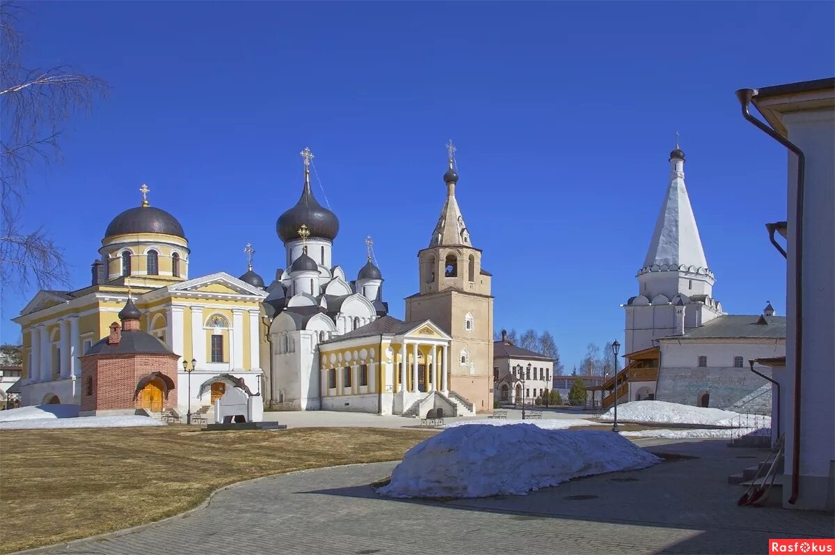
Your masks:
<svg viewBox="0 0 835 555"><path fill-rule="evenodd" d="M770 391L751 400L751 394L768 382L751 372L748 360L778 357L785 352L782 339L661 340L655 399L698 406L707 393L711 407L731 408L746 400L751 410L769 410ZM707 357L706 367L699 366L700 356ZM734 367L736 356L742 357L742 368ZM767 376L772 374L767 366L755 368Z"/></svg>

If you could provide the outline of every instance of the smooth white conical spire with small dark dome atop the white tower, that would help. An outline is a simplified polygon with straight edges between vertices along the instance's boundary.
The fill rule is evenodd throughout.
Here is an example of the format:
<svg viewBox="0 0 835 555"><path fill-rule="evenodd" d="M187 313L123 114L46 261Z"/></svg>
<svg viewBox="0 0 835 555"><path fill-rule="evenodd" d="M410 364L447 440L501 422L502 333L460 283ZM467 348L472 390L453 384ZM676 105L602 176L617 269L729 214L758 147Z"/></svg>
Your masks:
<svg viewBox="0 0 835 555"><path fill-rule="evenodd" d="M706 268L696 216L684 184L684 152L677 146L670 155L670 186L652 233L644 267L694 266Z"/></svg>

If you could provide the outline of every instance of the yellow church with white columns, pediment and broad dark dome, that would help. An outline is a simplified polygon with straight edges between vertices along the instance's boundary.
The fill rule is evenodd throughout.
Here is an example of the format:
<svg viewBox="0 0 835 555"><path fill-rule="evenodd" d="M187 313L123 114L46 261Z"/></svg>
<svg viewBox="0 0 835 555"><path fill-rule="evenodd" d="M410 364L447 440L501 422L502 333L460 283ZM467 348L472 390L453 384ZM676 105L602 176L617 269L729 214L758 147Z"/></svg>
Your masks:
<svg viewBox="0 0 835 555"><path fill-rule="evenodd" d="M90 285L39 291L14 318L23 331L22 405L79 403L78 357L109 334L129 296L142 313L140 328L180 355L181 409L189 400L193 409L211 405L228 382L222 374L260 390L266 292L225 272L190 278L183 227L169 212L149 205L147 186L140 191L141 205L114 217L104 232ZM137 391L139 400L152 397Z"/></svg>

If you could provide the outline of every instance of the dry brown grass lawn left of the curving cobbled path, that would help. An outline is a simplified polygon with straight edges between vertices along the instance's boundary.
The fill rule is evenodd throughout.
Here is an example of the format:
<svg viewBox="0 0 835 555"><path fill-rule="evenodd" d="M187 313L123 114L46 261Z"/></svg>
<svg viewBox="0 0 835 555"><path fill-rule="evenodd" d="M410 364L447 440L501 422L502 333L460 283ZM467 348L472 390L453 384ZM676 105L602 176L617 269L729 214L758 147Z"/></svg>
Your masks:
<svg viewBox="0 0 835 555"><path fill-rule="evenodd" d="M236 481L395 461L426 430L149 428L0 431L0 552L153 522Z"/></svg>

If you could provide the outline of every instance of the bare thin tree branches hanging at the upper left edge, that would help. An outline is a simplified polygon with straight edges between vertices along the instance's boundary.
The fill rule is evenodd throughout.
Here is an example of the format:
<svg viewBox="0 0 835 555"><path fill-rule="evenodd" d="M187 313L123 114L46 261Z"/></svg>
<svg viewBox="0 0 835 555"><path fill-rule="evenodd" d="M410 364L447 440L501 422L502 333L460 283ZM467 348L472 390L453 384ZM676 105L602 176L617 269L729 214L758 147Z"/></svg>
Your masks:
<svg viewBox="0 0 835 555"><path fill-rule="evenodd" d="M28 68L18 18L28 13L0 3L0 281L21 290L67 281L63 252L42 227L23 221L26 175L61 160L59 139L73 115L107 94L98 77L61 65Z"/></svg>

